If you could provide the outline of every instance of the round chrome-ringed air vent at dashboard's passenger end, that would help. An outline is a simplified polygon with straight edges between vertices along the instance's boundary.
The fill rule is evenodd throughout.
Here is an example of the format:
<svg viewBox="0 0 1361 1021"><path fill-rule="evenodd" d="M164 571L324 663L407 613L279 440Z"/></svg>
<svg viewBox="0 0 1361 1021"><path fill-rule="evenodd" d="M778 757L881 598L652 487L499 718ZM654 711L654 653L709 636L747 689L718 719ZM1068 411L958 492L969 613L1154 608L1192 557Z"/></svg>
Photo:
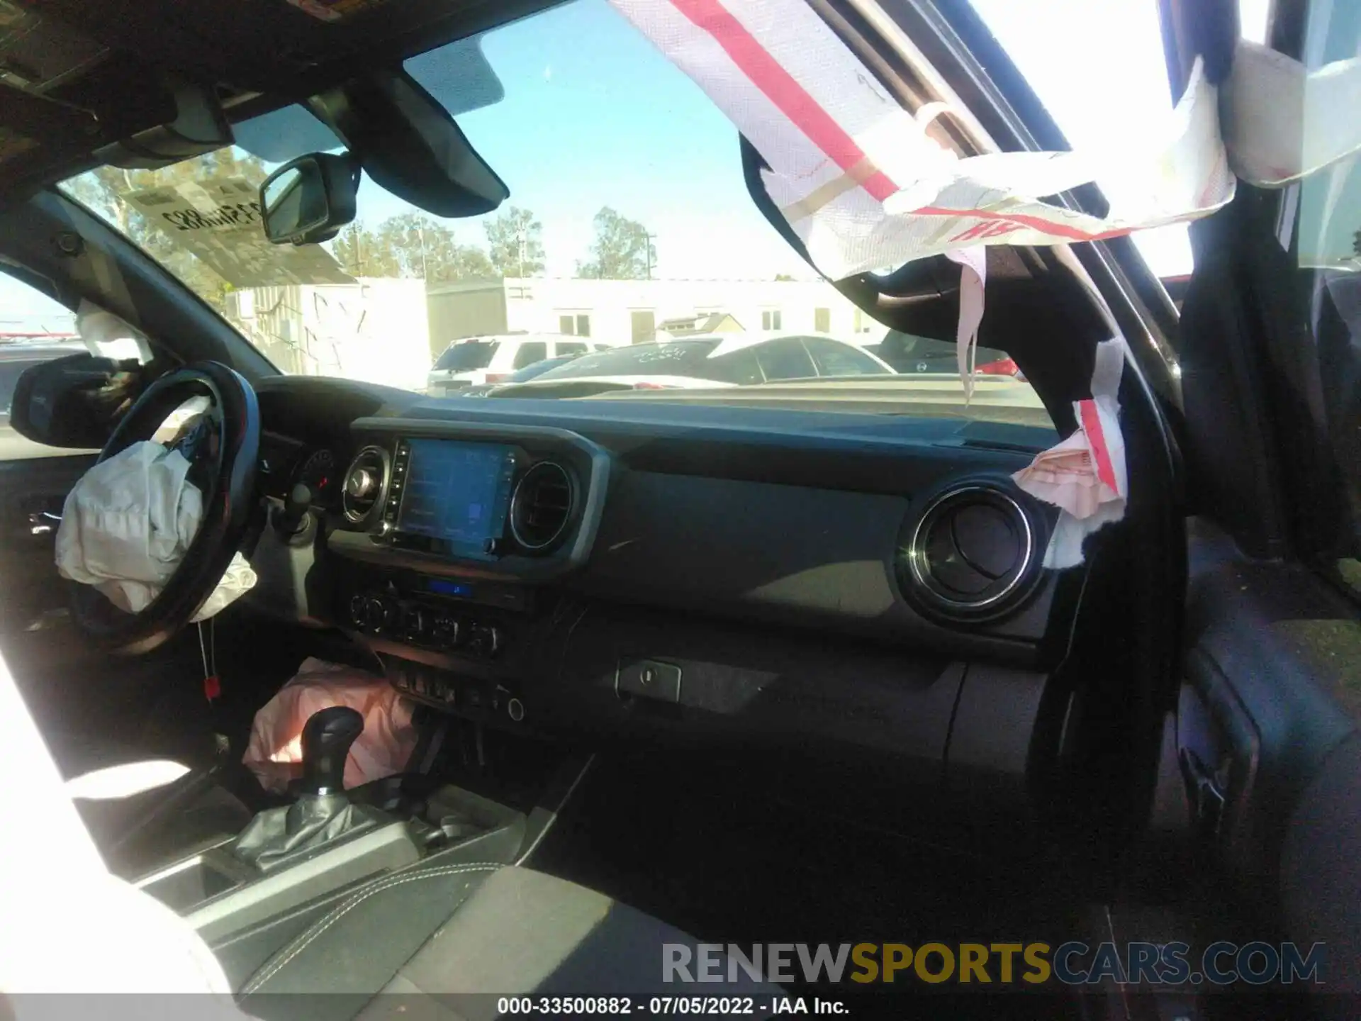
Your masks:
<svg viewBox="0 0 1361 1021"><path fill-rule="evenodd" d="M908 523L898 580L915 603L949 621L1014 610L1040 577L1036 527L1000 483L953 486Z"/></svg>

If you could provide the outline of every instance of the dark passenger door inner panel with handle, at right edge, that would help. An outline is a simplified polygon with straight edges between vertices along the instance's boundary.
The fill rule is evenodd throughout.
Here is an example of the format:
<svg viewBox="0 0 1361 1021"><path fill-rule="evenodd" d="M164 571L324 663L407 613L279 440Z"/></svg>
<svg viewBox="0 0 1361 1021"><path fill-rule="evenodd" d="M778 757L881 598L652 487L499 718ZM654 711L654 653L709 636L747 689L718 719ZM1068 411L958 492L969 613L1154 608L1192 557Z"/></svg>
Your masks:
<svg viewBox="0 0 1361 1021"><path fill-rule="evenodd" d="M1271 893L1292 811L1356 731L1361 622L1308 569L1241 557L1204 521L1191 557L1183 773L1202 836Z"/></svg>

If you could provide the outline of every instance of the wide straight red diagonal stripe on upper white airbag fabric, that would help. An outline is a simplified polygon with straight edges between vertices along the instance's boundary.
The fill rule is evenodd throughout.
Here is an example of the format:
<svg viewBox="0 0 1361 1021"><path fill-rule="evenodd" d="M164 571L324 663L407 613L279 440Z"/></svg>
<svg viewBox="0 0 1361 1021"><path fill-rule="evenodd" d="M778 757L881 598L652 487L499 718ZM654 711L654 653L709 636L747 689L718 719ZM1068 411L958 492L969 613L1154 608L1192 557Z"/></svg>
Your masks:
<svg viewBox="0 0 1361 1021"><path fill-rule="evenodd" d="M864 151L855 143L832 114L808 95L780 63L746 30L719 0L671 0L671 4L698 29L713 37L715 42L750 79L751 84L765 93L793 127L802 131L808 142L822 150L832 162L842 170L851 170L866 159ZM898 191L898 185L887 174L876 170L862 182L862 187L875 199L883 201Z"/></svg>

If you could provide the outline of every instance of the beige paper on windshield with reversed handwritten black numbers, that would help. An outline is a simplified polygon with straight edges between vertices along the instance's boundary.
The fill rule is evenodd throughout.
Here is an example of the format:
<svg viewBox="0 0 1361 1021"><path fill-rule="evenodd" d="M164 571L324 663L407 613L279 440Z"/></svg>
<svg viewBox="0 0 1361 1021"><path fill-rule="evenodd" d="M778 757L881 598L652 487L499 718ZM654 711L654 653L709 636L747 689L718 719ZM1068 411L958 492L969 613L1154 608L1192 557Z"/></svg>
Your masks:
<svg viewBox="0 0 1361 1021"><path fill-rule="evenodd" d="M271 244L260 226L259 189L245 178L182 181L124 197L161 237L234 287L354 283L320 245Z"/></svg>

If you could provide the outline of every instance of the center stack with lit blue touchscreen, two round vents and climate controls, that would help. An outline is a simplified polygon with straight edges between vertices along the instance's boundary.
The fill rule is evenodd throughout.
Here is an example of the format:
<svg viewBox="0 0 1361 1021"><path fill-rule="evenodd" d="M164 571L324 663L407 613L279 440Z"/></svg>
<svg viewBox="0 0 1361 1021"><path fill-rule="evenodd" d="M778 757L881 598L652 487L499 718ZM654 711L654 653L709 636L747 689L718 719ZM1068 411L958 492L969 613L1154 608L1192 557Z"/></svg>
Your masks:
<svg viewBox="0 0 1361 1021"><path fill-rule="evenodd" d="M527 726L536 606L584 565L611 457L561 429L361 419L327 536L331 618L404 694L478 723Z"/></svg>

